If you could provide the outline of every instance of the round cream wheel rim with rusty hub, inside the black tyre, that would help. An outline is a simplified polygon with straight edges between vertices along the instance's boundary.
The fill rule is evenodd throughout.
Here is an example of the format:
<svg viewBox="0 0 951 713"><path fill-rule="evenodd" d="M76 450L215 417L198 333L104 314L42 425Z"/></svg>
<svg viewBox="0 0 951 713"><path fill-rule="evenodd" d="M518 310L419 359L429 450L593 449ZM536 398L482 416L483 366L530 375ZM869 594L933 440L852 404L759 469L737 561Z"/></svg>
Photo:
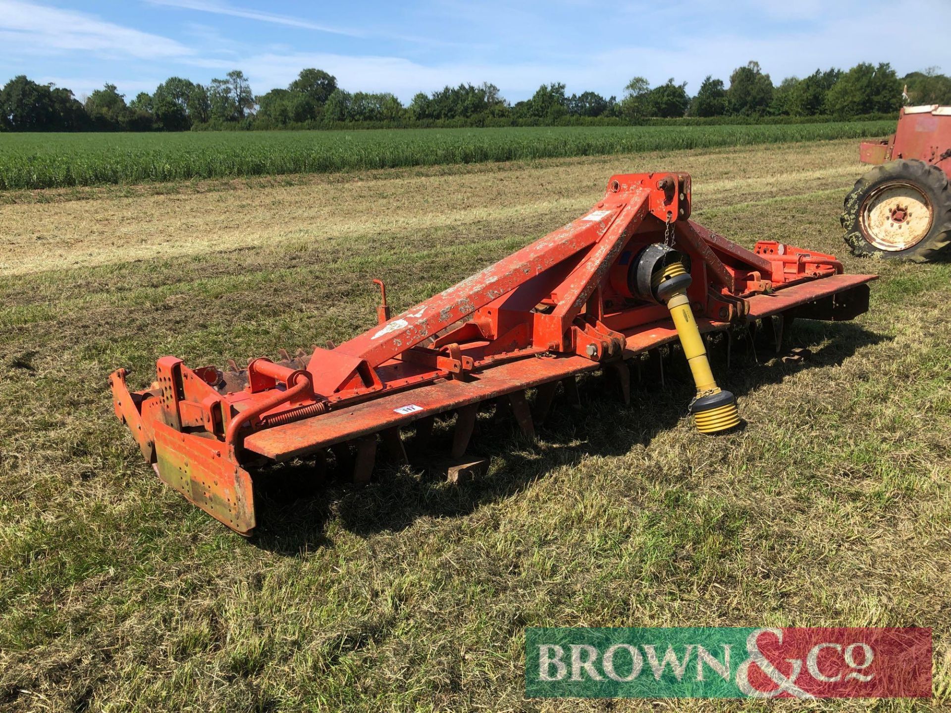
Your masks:
<svg viewBox="0 0 951 713"><path fill-rule="evenodd" d="M914 183L883 183L863 203L862 232L880 250L907 250L931 230L933 213L928 197Z"/></svg>

